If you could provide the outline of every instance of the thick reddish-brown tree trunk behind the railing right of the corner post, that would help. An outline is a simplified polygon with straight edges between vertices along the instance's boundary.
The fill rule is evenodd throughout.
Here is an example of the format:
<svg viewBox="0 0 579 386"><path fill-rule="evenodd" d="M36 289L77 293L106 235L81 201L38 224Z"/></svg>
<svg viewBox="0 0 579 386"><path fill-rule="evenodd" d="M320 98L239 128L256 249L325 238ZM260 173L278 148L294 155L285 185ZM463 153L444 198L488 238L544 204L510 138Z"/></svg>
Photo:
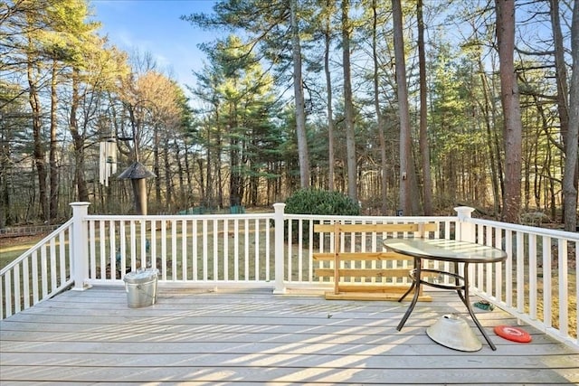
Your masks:
<svg viewBox="0 0 579 386"><path fill-rule="evenodd" d="M505 192L502 220L516 223L521 208L522 122L514 64L515 1L495 0L500 69L500 99L504 115Z"/></svg>

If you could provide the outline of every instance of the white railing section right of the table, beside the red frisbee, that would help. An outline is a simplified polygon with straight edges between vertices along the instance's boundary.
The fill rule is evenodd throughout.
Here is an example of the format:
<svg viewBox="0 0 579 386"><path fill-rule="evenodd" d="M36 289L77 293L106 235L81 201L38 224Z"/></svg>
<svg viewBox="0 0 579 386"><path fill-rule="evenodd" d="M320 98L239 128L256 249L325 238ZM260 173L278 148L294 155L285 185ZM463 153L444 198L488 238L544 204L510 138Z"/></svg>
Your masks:
<svg viewBox="0 0 579 386"><path fill-rule="evenodd" d="M471 283L479 296L579 347L579 233L480 219L466 222L471 224L470 240L508 254L504 264L472 267Z"/></svg>

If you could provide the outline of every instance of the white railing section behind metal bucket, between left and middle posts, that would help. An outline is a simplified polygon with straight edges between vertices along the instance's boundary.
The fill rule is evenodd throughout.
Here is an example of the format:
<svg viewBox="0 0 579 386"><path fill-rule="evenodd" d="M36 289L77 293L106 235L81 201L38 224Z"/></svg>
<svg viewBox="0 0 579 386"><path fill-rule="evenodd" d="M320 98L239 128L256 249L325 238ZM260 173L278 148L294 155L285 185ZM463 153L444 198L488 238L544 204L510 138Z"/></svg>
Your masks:
<svg viewBox="0 0 579 386"><path fill-rule="evenodd" d="M87 216L85 285L122 284L159 269L166 284L265 284L273 280L272 214Z"/></svg>

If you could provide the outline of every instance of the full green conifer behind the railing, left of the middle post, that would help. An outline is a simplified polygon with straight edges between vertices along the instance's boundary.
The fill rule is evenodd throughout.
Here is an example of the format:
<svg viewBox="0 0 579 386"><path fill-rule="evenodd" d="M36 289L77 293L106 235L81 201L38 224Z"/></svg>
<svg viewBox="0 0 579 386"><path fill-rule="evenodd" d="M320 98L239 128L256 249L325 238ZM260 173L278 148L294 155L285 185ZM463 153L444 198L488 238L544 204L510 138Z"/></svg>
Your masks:
<svg viewBox="0 0 579 386"><path fill-rule="evenodd" d="M211 101L209 115L218 117L213 121L214 127L227 142L215 151L226 152L230 206L235 206L242 204L246 186L255 190L257 179L268 174L263 168L268 159L265 153L279 143L279 139L273 138L276 131L269 118L275 113L271 95L273 81L251 54L245 54L236 36L217 42L207 52L211 65L203 74L198 74L196 90ZM251 198L252 192L248 197L257 201L254 194Z"/></svg>

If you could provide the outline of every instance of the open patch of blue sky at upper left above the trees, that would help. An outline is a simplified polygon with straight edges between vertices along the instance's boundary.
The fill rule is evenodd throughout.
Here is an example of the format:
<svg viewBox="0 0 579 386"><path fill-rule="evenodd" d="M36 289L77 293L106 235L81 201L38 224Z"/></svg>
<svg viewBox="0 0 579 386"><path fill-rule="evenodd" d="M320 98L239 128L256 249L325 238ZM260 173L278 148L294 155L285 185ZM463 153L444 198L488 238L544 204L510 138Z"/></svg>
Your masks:
<svg viewBox="0 0 579 386"><path fill-rule="evenodd" d="M193 70L203 65L201 42L211 42L215 32L194 27L179 17L211 13L214 0L92 0L93 19L102 24L100 34L128 53L150 52L157 65L172 71L180 84L193 86Z"/></svg>

